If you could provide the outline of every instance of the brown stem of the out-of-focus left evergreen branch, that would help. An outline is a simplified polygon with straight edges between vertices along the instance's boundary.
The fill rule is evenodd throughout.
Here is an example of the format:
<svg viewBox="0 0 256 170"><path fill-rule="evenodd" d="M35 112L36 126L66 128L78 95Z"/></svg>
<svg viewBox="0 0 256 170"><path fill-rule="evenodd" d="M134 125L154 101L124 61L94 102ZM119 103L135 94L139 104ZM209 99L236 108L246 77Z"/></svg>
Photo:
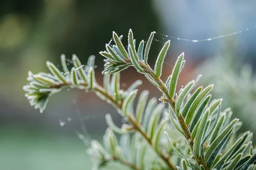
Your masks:
<svg viewBox="0 0 256 170"><path fill-rule="evenodd" d="M59 84L59 85L52 85L50 88L64 88L67 86L72 85L71 82L66 82L63 84ZM86 82L80 82L79 85L77 85L77 88L84 88L87 87L87 83ZM95 92L99 92L100 94L102 94L106 99L108 99L109 101L111 101L111 104L118 109L119 111L121 111L122 109L122 101L119 100L117 101L116 99L114 99L108 92L105 91L105 89L96 84L95 88L93 89L87 89L90 91L95 91ZM140 124L140 122L137 121L137 119L131 114L131 113L127 113L126 114L128 116L128 121L134 126L134 128L146 139L146 141L148 142L148 144L151 145L151 147L156 151L156 153L161 157L161 159L163 159L163 161L166 162L166 164L168 165L168 167L170 168L170 170L177 170L177 168L175 167L175 165L172 163L172 161L170 160L170 156L166 155L162 152L162 150L160 149L155 149L152 143L152 140L150 139L150 137L148 136L148 134L145 132L145 129L143 128L143 126Z"/></svg>

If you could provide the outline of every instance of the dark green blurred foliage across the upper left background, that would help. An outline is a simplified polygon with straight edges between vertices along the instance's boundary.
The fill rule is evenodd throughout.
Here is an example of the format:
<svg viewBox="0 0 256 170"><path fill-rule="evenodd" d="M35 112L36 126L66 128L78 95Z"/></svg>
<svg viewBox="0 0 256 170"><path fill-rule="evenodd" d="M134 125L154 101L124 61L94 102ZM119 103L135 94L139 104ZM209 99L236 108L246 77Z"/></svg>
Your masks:
<svg viewBox="0 0 256 170"><path fill-rule="evenodd" d="M110 38L106 32L127 34L131 27L149 34L159 25L147 0L4 0L0 6L1 54L31 46L45 47L51 56L96 54Z"/></svg>

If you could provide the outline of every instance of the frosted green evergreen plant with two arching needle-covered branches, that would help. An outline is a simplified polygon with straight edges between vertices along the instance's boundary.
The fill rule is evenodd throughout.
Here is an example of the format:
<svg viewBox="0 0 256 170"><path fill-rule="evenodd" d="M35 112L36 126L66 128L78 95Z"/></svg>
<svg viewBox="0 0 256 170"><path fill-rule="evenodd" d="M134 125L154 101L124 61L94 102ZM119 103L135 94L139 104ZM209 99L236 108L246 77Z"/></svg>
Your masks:
<svg viewBox="0 0 256 170"><path fill-rule="evenodd" d="M169 41L160 51L154 70L148 65L153 37L154 32L145 49L144 41L136 49L133 32L130 30L126 50L121 42L122 36L113 32L115 44L106 44L106 51L100 52L106 57L103 87L95 79L94 56L89 57L84 67L74 55L71 71L67 69L65 57L61 56L64 74L51 62L47 62L51 74L29 72L29 84L23 87L27 92L25 96L32 106L42 112L49 96L62 88L93 91L128 120L127 124L117 127L110 114L106 115L109 128L103 136L104 145L93 140L88 150L96 169L109 161L119 161L134 170L256 170L256 153L250 142L252 133L246 132L237 138L236 131L241 127L241 122L238 119L230 122L232 111L229 108L221 111L222 99L210 102L209 92L213 85L194 90L201 77L199 75L177 93L177 80L185 64L183 53L165 83L160 76ZM127 90L120 89L119 82L119 72L129 66L134 66L160 89L163 93L160 101L168 103L169 110L165 109L163 103L157 104L155 98L147 102L149 92L143 91L134 112L136 88L141 81L134 82ZM113 74L112 77L109 74ZM122 134L120 142L114 132Z"/></svg>

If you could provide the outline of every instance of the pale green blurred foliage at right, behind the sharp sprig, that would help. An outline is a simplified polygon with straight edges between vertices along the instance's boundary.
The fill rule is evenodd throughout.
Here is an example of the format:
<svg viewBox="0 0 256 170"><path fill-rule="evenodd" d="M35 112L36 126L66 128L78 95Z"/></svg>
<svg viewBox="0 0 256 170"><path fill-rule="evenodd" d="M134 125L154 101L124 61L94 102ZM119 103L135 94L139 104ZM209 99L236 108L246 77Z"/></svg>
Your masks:
<svg viewBox="0 0 256 170"><path fill-rule="evenodd" d="M218 56L205 60L196 74L204 73L202 84L214 83L214 98L223 98L224 107L230 107L233 117L244 122L241 130L256 131L256 75L250 64L243 64L237 51L238 42L229 37ZM254 136L254 140L256 137Z"/></svg>

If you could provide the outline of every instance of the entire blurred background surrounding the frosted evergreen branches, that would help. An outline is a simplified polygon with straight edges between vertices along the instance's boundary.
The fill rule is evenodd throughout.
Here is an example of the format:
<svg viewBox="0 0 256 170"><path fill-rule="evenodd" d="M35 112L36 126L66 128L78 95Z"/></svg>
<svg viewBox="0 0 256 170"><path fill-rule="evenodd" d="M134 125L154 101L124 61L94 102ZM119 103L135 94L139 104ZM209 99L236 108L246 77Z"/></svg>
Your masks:
<svg viewBox="0 0 256 170"><path fill-rule="evenodd" d="M107 127L105 114L111 113L117 125L122 123L121 116L94 94L75 89L52 96L41 114L29 106L22 86L29 70L47 71L47 60L59 66L61 54L70 59L76 54L83 63L94 54L98 82L102 82L103 57L99 51L104 50L112 31L123 34L125 41L130 28L137 42L147 40L151 31L200 40L248 28L211 41L171 39L163 79L171 74L173 62L184 51L187 62L178 85L203 74L201 85L215 84L213 96L224 98L223 106L233 108L233 116L244 122L241 130L256 132L254 6L253 1L234 0L1 0L0 169L91 168L87 147L75 132L84 133L86 127L87 138L101 140ZM152 66L169 38L156 34L149 58ZM125 82L122 88L137 79L144 83L139 90L149 89L151 96L160 97L157 89L132 68L121 74Z"/></svg>

